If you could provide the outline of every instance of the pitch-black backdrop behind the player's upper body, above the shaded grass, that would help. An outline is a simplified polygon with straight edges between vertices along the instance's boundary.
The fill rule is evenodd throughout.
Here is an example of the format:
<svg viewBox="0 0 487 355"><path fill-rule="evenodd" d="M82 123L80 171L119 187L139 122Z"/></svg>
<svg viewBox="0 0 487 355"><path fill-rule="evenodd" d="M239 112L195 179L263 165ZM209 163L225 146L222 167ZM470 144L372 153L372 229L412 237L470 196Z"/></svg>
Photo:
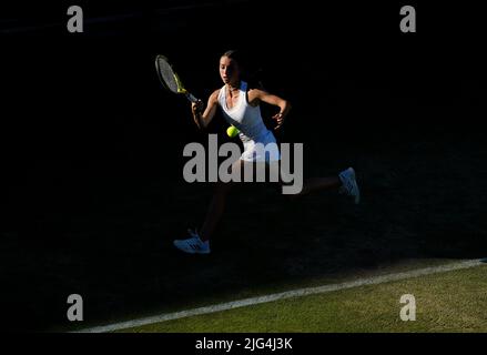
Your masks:
<svg viewBox="0 0 487 355"><path fill-rule="evenodd" d="M455 110L478 108L484 92L480 11L473 4L418 4L418 32L402 33L402 3L80 3L81 34L68 33L65 6L3 11L7 175L44 158L71 164L163 154L164 175L179 179L173 160L202 135L187 104L160 90L156 53L207 98L221 85L220 54L243 49L263 68L266 88L293 103L288 141L475 131L476 115L459 120ZM339 112L347 119L334 119Z"/></svg>

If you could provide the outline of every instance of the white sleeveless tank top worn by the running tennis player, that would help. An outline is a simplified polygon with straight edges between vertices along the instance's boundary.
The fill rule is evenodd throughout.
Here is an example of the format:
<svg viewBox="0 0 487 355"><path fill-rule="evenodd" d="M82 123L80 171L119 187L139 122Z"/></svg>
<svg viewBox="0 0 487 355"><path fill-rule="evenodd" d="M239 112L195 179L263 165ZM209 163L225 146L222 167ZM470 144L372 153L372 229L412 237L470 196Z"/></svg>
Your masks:
<svg viewBox="0 0 487 355"><path fill-rule="evenodd" d="M220 90L219 103L223 110L226 122L239 129L239 136L243 142L248 140L261 141L271 132L262 120L261 108L258 105L252 106L248 104L246 92L247 83L242 81L240 85L239 101L232 109L229 109L226 106L226 88L223 87Z"/></svg>

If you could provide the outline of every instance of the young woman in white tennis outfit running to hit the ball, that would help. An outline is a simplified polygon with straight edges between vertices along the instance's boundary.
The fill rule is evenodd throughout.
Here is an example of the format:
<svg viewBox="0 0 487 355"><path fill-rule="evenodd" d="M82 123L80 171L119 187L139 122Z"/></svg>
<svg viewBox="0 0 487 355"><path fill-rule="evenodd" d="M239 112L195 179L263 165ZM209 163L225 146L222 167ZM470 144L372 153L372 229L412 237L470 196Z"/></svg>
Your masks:
<svg viewBox="0 0 487 355"><path fill-rule="evenodd" d="M196 125L200 129L206 128L220 106L226 121L239 129L244 152L240 160L231 166L232 171L237 170L242 172L244 164L261 162L268 165L280 160L277 145L266 145L276 143L276 140L272 131L267 130L262 120L260 103L265 102L278 108L278 113L273 116L273 120L277 123L275 129L280 129L284 123L291 110L291 104L286 100L264 90L250 89L248 83L242 80L242 67L237 51L227 51L220 58L220 77L224 85L211 94L204 112L202 102L192 103L193 119ZM261 150L256 149L256 143L271 146L270 154L263 156ZM275 151L273 151L273 149ZM189 230L190 237L175 240L175 247L191 254L210 253L210 237L223 214L226 196L232 184L233 183L216 183L205 221L200 232ZM359 202L359 190L353 168L342 171L337 176L305 180L303 190L298 195L325 189L341 189L346 194L353 196L355 203Z"/></svg>

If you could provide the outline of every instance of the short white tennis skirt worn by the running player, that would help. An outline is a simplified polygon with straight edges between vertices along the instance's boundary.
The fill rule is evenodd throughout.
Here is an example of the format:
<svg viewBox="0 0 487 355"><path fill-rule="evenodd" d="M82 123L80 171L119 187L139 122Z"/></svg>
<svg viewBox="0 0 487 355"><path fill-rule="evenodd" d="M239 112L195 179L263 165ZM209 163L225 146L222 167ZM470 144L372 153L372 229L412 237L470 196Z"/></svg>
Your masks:
<svg viewBox="0 0 487 355"><path fill-rule="evenodd" d="M274 162L281 160L277 141L271 131L266 131L257 139L248 139L243 133L240 134L244 145L241 160L245 162Z"/></svg>

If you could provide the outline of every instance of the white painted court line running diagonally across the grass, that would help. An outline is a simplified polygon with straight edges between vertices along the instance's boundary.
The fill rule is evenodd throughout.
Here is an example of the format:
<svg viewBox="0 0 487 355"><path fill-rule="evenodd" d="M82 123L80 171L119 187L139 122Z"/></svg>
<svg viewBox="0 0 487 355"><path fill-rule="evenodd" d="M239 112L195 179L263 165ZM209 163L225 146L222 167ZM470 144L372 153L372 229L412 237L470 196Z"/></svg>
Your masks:
<svg viewBox="0 0 487 355"><path fill-rule="evenodd" d="M475 266L480 266L480 265L486 265L485 258L483 258L483 260L468 260L468 261L464 261L464 262L452 263L452 264L446 264L446 265L440 265L440 266L426 267L426 268L419 268L419 270L413 270L413 271L403 272L403 273L361 278L357 281L345 282L345 283L341 283L341 284L332 284L332 285L325 285L325 286L318 286L318 287L307 287L307 288L293 290L293 291L271 294L271 295L266 295L266 296L245 298L245 300L227 302L227 303L216 304L216 305L206 306L206 307L200 307L200 308L187 310L187 311L175 312L175 313L161 314L161 315L156 315L156 316L144 317L144 318L140 318L140 320L133 320L133 321L121 322L121 323L114 323L114 324L109 324L109 325L103 325L103 326L95 326L95 327L91 327L91 328L77 331L73 333L106 333L106 332L126 329L126 328L131 328L131 327L138 327L138 326L142 326L142 325L149 325L149 324L173 321L173 320L179 320L179 318L184 318L184 317L191 317L191 316L195 316L195 315L210 314L210 313L227 311L227 310L233 310L233 308L239 308L239 307L252 306L252 305L278 301L278 300L315 295L315 294L328 293L328 292L334 292L334 291L339 291L339 290L361 287L361 286L366 286L366 285L377 285L377 284L386 283L386 282L393 282L393 281L418 277L418 276L424 276L424 275L444 273L444 272L454 271L454 270L469 268L469 267L475 267Z"/></svg>

